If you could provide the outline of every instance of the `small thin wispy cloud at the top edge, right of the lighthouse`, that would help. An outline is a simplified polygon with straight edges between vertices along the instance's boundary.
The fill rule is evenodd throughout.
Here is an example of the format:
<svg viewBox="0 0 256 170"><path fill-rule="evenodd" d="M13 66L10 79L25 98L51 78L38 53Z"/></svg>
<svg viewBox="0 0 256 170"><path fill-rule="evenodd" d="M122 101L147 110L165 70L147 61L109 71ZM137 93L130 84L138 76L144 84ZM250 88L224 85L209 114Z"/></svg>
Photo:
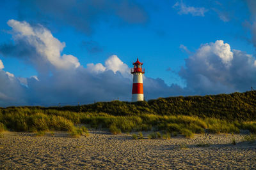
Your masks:
<svg viewBox="0 0 256 170"><path fill-rule="evenodd" d="M179 15L187 15L191 14L193 16L200 16L204 17L204 14L208 11L204 7L194 7L194 6L188 6L183 1L178 1L173 5L173 8L178 10Z"/></svg>

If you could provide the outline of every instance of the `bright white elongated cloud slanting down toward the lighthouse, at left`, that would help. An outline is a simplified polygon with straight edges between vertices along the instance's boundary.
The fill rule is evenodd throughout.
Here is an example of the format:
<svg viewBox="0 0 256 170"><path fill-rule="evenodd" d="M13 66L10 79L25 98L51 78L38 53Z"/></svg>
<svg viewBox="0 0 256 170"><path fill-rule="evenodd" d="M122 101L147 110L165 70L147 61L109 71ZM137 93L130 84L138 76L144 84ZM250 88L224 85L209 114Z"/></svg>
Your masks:
<svg viewBox="0 0 256 170"><path fill-rule="evenodd" d="M29 50L33 55L27 57L31 57L28 60L36 64L36 67L43 69L41 67L43 62L56 69L70 69L80 66L78 59L73 55L64 54L61 56L65 43L54 38L51 31L42 25L32 27L25 21L19 22L17 20L8 20L7 24L12 27L13 39L18 45L30 46Z"/></svg>

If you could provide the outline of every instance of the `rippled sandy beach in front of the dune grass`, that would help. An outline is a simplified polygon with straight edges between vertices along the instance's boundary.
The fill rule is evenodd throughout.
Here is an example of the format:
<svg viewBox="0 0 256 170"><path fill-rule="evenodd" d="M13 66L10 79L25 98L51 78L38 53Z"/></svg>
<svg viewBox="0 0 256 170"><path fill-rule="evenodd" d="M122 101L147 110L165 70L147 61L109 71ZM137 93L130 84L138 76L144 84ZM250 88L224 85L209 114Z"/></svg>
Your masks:
<svg viewBox="0 0 256 170"><path fill-rule="evenodd" d="M81 138L4 132L0 169L256 169L256 143L239 143L242 139L240 134L134 140L131 134L106 131ZM202 142L211 145L196 146Z"/></svg>

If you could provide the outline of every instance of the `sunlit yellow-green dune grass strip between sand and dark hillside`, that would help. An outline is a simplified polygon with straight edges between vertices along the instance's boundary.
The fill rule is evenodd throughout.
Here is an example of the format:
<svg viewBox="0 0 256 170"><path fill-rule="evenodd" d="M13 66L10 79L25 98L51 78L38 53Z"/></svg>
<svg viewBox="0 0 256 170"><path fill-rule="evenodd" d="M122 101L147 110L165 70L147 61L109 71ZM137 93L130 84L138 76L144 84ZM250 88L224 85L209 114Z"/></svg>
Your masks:
<svg viewBox="0 0 256 170"><path fill-rule="evenodd" d="M86 124L93 128L107 128L112 134L131 131L165 131L168 134L182 134L186 138L193 138L193 134L204 134L205 129L210 133L239 133L239 129L256 132L256 121L228 121L218 118L198 118L187 115L154 115L140 114L115 116L108 113L68 113L67 111L39 111L29 113L2 113L1 129L12 131L68 131L79 136L76 124ZM70 115L74 117L70 117ZM75 130L74 130L75 129ZM152 136L154 138L154 136Z"/></svg>

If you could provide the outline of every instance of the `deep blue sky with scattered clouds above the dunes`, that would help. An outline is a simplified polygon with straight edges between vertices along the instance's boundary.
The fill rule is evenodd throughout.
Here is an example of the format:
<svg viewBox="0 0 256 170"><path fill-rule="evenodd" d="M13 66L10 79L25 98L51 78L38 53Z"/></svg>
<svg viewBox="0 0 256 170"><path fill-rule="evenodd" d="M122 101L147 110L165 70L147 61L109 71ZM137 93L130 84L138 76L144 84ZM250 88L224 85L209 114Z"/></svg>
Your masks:
<svg viewBox="0 0 256 170"><path fill-rule="evenodd" d="M254 0L2 0L0 106L256 89Z"/></svg>

